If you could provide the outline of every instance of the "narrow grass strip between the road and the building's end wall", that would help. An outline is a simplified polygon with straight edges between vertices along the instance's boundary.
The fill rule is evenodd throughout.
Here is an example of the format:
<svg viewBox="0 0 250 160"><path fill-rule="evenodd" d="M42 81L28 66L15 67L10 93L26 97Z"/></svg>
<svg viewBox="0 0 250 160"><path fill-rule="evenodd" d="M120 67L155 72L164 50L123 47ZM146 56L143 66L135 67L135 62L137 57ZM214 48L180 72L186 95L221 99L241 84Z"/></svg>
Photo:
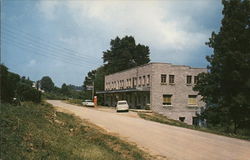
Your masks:
<svg viewBox="0 0 250 160"><path fill-rule="evenodd" d="M202 132L213 133L213 134L217 134L217 135L223 135L223 136L232 137L232 138L250 140L250 135L239 135L239 134L226 133L226 132L223 132L223 128L205 128L205 127L188 125L188 124L183 123L181 121L169 119L166 116L163 116L163 115L157 114L157 113L138 112L137 114L139 115L139 117L141 117L143 119L154 121L154 122L159 122L159 123L168 124L168 125L172 125L172 126L193 129L193 130L202 131Z"/></svg>

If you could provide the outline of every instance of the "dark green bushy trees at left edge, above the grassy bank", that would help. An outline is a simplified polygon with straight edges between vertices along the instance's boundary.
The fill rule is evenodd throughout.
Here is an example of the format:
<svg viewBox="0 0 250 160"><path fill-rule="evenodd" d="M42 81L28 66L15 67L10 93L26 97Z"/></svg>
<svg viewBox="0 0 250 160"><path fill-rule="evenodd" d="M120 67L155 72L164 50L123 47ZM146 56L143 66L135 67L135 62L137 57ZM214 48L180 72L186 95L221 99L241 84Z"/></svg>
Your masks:
<svg viewBox="0 0 250 160"><path fill-rule="evenodd" d="M8 68L0 64L0 90L1 102L11 103L15 97L21 101L41 101L41 92L32 88L32 81L18 74L8 71Z"/></svg>

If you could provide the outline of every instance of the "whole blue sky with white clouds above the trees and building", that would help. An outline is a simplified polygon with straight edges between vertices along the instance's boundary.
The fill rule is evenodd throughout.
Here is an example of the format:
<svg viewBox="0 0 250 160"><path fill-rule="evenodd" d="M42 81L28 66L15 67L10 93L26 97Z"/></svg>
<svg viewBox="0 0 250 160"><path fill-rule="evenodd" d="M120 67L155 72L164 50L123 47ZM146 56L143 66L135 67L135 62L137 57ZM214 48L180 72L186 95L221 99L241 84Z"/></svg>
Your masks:
<svg viewBox="0 0 250 160"><path fill-rule="evenodd" d="M1 63L33 81L82 85L110 40L133 36L151 62L206 67L219 0L1 0Z"/></svg>

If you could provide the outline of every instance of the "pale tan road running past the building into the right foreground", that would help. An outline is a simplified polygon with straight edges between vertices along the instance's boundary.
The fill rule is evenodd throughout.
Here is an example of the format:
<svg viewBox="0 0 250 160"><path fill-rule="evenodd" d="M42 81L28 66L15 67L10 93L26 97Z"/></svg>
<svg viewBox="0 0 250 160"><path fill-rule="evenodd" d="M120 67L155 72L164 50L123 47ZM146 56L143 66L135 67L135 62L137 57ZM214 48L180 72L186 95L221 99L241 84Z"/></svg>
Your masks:
<svg viewBox="0 0 250 160"><path fill-rule="evenodd" d="M249 160L250 142L48 100L169 160ZM129 114L128 116L126 114Z"/></svg>

